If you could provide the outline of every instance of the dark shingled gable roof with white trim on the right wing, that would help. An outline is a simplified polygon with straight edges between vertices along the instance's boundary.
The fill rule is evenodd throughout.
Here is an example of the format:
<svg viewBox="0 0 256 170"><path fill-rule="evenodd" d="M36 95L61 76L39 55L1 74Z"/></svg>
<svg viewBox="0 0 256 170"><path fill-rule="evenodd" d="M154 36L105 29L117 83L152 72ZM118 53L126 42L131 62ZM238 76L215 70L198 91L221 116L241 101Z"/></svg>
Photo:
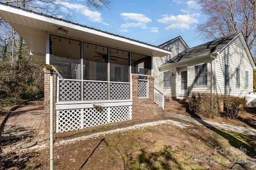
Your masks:
<svg viewBox="0 0 256 170"><path fill-rule="evenodd" d="M166 63L159 66L159 68L164 68L171 64L179 64L186 61L202 58L202 57L210 57L211 55L216 55L220 53L227 45L229 45L236 37L240 37L242 40L241 43L243 47L246 50L246 53L249 57L250 63L252 64L252 67L255 67L255 64L252 59L252 55L248 49L248 46L244 40L244 36L242 32L233 33L231 35L222 37L220 39L216 39L214 41L210 41L208 43L204 43L202 45L198 45L196 47L193 47L191 49L187 49L185 51L182 51L180 54L176 55Z"/></svg>

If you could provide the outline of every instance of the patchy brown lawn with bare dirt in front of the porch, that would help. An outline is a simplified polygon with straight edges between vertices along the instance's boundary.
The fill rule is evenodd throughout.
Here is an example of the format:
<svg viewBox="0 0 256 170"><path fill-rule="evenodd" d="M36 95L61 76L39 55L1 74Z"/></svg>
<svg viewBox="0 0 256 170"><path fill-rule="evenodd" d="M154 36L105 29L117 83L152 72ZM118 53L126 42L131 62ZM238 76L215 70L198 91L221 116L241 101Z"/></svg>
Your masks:
<svg viewBox="0 0 256 170"><path fill-rule="evenodd" d="M165 122L112 133L112 130L118 128L159 120L178 119L154 117L55 134L54 169L226 170L235 162L254 158L256 155L255 136L207 128L185 121L181 122L189 127ZM88 135L90 138L86 138ZM48 139L42 140L42 143L45 141ZM43 145L42 143L39 145ZM11 149L14 144L15 142L10 144L10 141L9 144L8 141L2 143L2 152L6 151L6 147L11 151L1 154L0 168L49 169L48 147L25 152Z"/></svg>

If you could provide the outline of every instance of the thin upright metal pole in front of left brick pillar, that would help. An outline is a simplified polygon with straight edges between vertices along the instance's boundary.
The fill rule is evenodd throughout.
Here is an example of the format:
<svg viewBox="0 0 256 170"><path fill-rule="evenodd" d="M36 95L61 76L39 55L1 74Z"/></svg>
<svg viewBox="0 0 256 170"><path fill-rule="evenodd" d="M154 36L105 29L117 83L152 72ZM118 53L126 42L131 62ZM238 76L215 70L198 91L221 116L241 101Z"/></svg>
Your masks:
<svg viewBox="0 0 256 170"><path fill-rule="evenodd" d="M50 73L50 170L53 170L53 71Z"/></svg>

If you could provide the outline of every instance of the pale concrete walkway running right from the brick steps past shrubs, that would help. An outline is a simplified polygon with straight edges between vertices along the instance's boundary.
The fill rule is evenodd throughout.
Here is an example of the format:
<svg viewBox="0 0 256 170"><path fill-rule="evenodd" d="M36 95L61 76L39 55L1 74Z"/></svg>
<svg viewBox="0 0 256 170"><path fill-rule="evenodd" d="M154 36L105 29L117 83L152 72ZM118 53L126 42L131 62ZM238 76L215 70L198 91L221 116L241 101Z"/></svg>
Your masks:
<svg viewBox="0 0 256 170"><path fill-rule="evenodd" d="M207 127L215 127L216 129L234 131L234 132L244 133L244 134L248 134L248 135L256 135L256 129L228 125L228 124L219 123L219 122L215 122L215 121L202 120L202 119L198 119L195 117L190 117L187 115L182 115L182 114L177 114L177 113L170 113L170 115L172 117L176 117L178 119L189 121L189 122L195 123L197 125L203 125L203 126L207 126Z"/></svg>

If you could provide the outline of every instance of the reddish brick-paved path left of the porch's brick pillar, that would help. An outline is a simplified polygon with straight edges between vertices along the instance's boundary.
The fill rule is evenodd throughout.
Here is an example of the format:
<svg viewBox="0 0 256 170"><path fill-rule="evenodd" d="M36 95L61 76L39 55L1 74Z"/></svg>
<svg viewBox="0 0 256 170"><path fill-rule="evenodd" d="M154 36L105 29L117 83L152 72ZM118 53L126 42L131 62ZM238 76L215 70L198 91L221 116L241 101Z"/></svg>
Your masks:
<svg viewBox="0 0 256 170"><path fill-rule="evenodd" d="M44 105L26 105L9 113L0 130L0 141L44 134Z"/></svg>

